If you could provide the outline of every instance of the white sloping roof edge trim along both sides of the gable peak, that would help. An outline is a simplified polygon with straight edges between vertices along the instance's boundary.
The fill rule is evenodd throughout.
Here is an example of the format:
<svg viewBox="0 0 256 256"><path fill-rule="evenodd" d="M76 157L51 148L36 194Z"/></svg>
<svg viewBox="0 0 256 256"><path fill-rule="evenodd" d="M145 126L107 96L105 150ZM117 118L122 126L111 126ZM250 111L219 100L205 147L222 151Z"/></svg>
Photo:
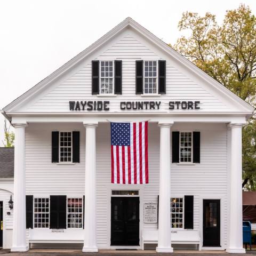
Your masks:
<svg viewBox="0 0 256 256"><path fill-rule="evenodd" d="M81 62L82 60L84 60L84 58L86 58L87 55L89 55L93 51L96 51L100 46L102 46L111 38L113 38L115 35L120 33L127 26L132 27L138 33L146 37L150 42L156 44L158 47L161 47L161 49L164 52L166 52L167 54L170 54L172 58L174 58L176 61L182 63L182 65L185 65L188 69L196 73L199 77L204 79L205 82L210 83L215 88L215 90L225 95L230 101L233 101L233 102L235 101L236 104L241 107L241 112L243 113L246 112L248 114L252 113L252 111L254 110L252 106L250 106L248 103L243 101L241 98L237 97L237 95L229 91L225 86L215 81L212 77L210 77L204 71L196 67L192 62L190 62L181 54L173 50L169 45L164 43L161 39L156 37L154 34L150 33L147 29L143 28L141 25L139 25L139 23L135 22L130 17L126 18L124 21L119 23L115 28L111 29L106 35L98 39L98 41L93 43L91 46L87 47L87 49L85 49L84 51L76 55L76 57L74 57L73 59L65 63L65 65L63 65L62 67L54 71L51 75L47 76L41 82L39 82L34 87L32 87L30 90L22 94L19 98L15 99L9 105L4 107L3 108L4 112L11 112L14 107L22 106L23 103L25 104L27 101L32 99L37 93L41 92L41 90L44 90L53 81L55 81L55 79L65 74L67 70L74 67L77 63Z"/></svg>

